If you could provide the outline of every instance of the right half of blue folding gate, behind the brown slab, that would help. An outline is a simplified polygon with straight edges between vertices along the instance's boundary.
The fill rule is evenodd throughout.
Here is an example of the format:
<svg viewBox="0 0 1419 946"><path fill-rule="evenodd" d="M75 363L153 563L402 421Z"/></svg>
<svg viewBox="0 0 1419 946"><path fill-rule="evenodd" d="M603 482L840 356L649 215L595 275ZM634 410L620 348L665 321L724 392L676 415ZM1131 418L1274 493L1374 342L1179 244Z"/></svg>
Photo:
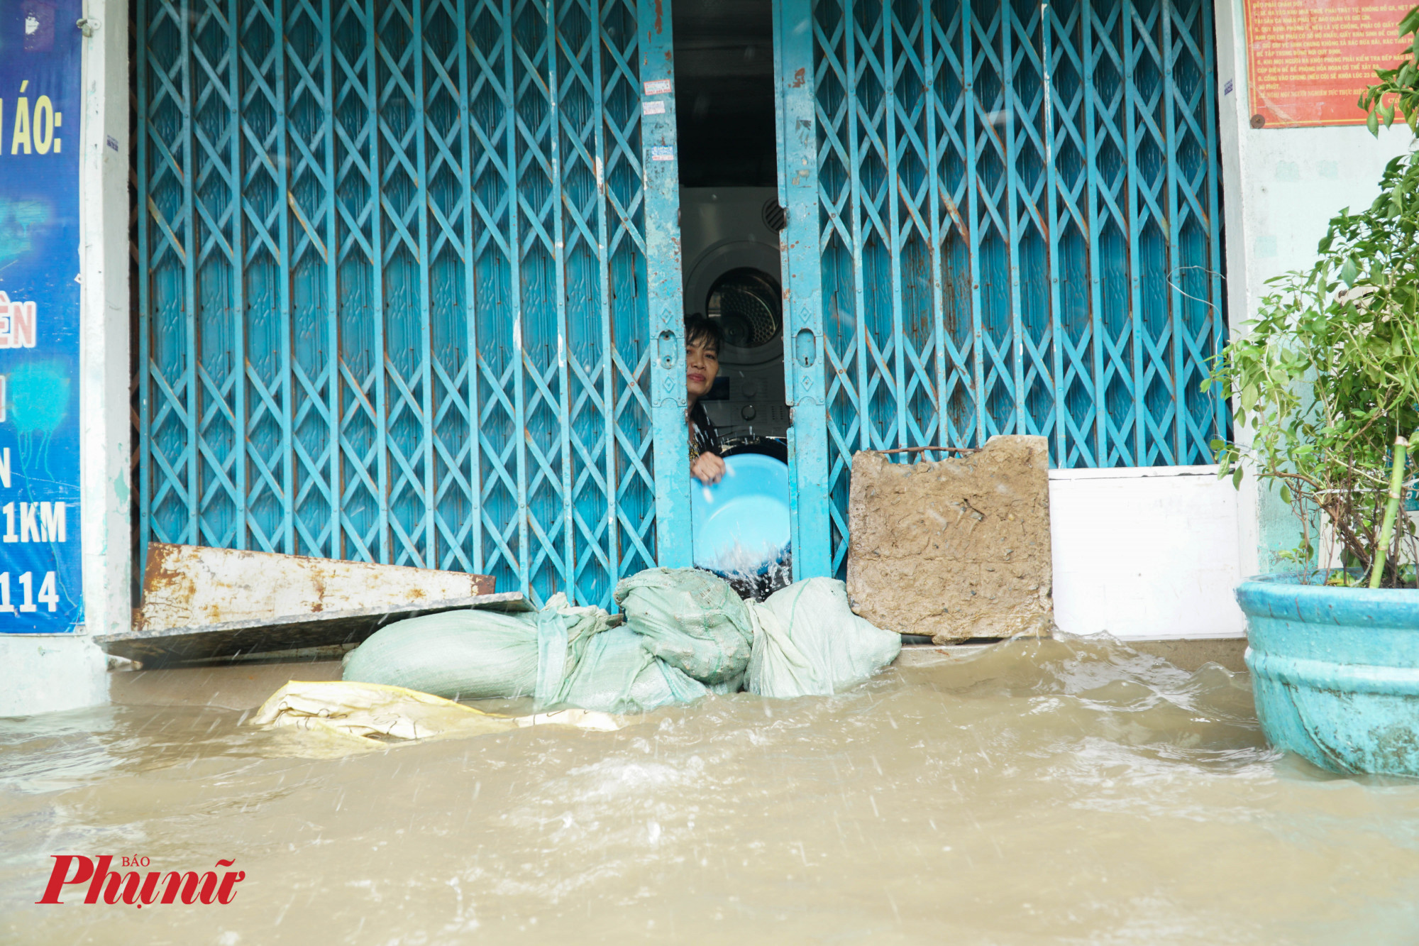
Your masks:
<svg viewBox="0 0 1419 946"><path fill-rule="evenodd" d="M782 0L795 565L854 450L1210 463L1225 335L1209 0Z"/></svg>

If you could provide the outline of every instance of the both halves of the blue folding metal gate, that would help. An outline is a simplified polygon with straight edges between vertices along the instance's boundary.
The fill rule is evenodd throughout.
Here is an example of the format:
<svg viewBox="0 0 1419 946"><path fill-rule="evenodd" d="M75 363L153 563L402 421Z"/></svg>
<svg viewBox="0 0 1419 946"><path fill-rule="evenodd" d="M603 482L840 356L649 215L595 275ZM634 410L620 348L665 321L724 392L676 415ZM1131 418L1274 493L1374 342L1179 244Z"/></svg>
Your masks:
<svg viewBox="0 0 1419 946"><path fill-rule="evenodd" d="M668 0L135 4L142 541L688 564ZM1208 0L775 17L797 574L858 449L1209 462Z"/></svg>

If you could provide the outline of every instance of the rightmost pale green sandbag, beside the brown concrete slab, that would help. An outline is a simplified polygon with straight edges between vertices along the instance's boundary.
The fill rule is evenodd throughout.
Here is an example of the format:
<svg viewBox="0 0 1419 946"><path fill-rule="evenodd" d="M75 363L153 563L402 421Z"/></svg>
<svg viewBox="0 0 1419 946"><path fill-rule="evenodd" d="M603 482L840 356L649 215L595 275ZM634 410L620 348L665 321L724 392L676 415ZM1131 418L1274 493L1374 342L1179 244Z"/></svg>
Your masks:
<svg viewBox="0 0 1419 946"><path fill-rule="evenodd" d="M834 578L806 578L748 607L756 632L745 689L759 696L829 696L901 652L901 635L853 614Z"/></svg>

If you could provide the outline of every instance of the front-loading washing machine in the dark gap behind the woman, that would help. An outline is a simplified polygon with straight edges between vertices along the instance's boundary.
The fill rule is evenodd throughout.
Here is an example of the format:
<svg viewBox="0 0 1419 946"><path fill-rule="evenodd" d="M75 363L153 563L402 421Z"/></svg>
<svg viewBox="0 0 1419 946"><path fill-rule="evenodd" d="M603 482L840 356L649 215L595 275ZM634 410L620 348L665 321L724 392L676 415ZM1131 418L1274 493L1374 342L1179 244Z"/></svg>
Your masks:
<svg viewBox="0 0 1419 946"><path fill-rule="evenodd" d="M685 315L719 322L719 376L701 399L725 440L786 437L783 290L775 187L684 187L680 246Z"/></svg>

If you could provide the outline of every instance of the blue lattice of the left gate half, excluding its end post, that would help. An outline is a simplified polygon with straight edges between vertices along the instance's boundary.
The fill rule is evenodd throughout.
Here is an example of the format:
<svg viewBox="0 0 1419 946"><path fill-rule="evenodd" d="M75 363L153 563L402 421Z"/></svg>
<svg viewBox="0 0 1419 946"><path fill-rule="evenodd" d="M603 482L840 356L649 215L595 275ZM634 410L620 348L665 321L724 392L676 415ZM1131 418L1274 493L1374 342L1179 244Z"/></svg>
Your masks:
<svg viewBox="0 0 1419 946"><path fill-rule="evenodd" d="M609 605L656 560L636 4L135 30L142 541Z"/></svg>

